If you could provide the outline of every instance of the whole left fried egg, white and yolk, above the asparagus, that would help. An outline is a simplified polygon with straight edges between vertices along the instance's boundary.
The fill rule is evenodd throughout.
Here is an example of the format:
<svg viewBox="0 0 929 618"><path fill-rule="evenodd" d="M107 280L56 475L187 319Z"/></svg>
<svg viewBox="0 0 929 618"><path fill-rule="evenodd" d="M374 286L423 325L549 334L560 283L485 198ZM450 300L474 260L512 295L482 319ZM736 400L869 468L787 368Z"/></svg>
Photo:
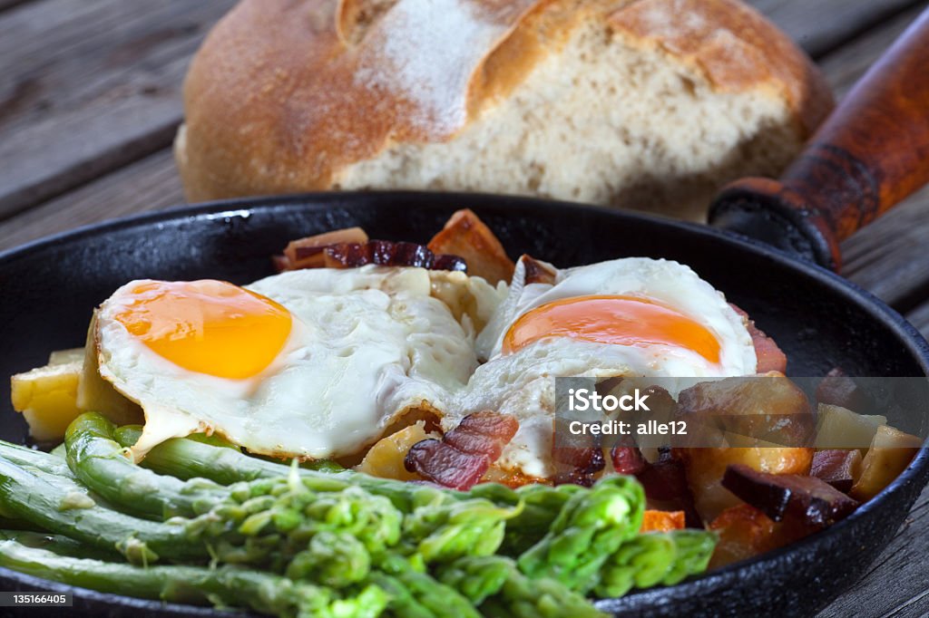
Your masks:
<svg viewBox="0 0 929 618"><path fill-rule="evenodd" d="M137 457L195 431L258 454L353 454L407 410L448 408L477 367L467 316L431 291L424 269L379 266L244 288L132 281L98 309L99 371L145 412Z"/></svg>

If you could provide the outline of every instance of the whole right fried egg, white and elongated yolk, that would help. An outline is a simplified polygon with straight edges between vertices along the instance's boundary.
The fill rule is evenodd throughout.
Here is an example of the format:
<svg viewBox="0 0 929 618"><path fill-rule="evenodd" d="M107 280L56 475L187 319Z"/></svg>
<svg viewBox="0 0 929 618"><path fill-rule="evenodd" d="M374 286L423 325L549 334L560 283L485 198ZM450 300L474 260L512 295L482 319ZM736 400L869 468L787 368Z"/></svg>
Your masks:
<svg viewBox="0 0 929 618"><path fill-rule="evenodd" d="M445 429L482 409L519 430L497 464L548 478L556 377L751 375L757 358L743 318L683 264L625 258L557 270L527 283L520 260L509 295L477 340L476 369ZM662 380L662 383L667 383Z"/></svg>

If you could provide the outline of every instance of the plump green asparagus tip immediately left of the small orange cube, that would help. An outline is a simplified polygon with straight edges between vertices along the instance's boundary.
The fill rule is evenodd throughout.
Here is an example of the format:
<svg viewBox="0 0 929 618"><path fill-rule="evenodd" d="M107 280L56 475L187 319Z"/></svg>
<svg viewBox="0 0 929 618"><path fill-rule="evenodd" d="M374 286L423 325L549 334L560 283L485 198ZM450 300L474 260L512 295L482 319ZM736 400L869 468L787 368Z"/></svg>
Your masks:
<svg viewBox="0 0 929 618"><path fill-rule="evenodd" d="M585 592L608 557L638 532L644 512L645 492L635 479L604 479L569 497L548 533L519 557L519 568Z"/></svg>

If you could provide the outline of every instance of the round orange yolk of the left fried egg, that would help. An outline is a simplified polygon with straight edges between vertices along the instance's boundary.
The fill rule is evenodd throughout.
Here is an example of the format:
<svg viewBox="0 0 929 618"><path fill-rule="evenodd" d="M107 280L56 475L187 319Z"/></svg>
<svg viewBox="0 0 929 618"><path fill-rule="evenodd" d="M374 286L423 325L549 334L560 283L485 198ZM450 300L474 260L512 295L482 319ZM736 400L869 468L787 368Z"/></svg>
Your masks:
<svg viewBox="0 0 929 618"><path fill-rule="evenodd" d="M290 312L225 281L151 281L116 315L156 354L179 367L242 380L264 370L290 336Z"/></svg>

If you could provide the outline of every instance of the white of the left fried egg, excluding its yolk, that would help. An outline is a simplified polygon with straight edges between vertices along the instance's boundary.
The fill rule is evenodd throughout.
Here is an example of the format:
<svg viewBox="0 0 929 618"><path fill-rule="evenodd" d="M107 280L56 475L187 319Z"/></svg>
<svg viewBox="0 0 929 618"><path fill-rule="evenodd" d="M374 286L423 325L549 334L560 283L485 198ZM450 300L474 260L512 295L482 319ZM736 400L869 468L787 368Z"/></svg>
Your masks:
<svg viewBox="0 0 929 618"><path fill-rule="evenodd" d="M137 456L193 431L266 455L352 454L412 407L448 408L477 367L471 334L421 268L301 270L246 286L293 316L281 353L246 380L178 367L131 335L115 315L137 283L97 319L100 375L145 411Z"/></svg>

